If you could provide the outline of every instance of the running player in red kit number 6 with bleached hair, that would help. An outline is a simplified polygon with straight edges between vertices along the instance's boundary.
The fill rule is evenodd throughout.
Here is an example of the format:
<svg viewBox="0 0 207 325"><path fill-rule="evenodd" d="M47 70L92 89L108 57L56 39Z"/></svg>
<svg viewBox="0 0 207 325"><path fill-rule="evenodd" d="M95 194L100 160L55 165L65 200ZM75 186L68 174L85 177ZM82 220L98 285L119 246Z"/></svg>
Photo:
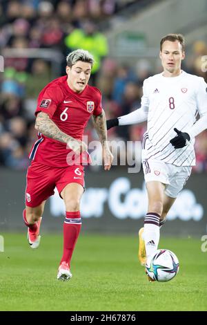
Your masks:
<svg viewBox="0 0 207 325"><path fill-rule="evenodd" d="M72 277L70 260L81 230L83 163L89 159L82 137L91 115L103 148L104 169L109 170L112 163L101 92L88 85L94 59L86 50L75 50L66 60L67 75L50 82L38 97L35 129L39 138L30 151L32 163L28 167L26 209L23 210L28 242L31 248L37 248L44 205L57 187L66 205L63 255L57 274L57 279L62 280Z"/></svg>

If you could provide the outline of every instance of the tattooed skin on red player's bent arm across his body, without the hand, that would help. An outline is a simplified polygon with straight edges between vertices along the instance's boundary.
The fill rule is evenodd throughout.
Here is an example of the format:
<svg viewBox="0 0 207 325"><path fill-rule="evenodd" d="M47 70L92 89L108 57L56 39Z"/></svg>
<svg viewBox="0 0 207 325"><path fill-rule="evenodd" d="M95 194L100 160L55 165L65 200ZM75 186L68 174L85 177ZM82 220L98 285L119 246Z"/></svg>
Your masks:
<svg viewBox="0 0 207 325"><path fill-rule="evenodd" d="M35 122L35 129L43 133L48 138L58 140L60 142L68 143L69 140L75 140L68 134L64 133L57 127L57 125L50 120L48 114L39 112Z"/></svg>

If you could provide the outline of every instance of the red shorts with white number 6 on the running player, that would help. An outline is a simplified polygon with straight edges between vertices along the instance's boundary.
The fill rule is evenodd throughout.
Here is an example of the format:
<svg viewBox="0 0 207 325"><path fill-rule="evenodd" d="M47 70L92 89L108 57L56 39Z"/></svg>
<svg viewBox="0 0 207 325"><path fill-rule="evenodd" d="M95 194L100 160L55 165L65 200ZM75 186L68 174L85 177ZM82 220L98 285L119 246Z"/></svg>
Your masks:
<svg viewBox="0 0 207 325"><path fill-rule="evenodd" d="M84 167L52 167L32 161L28 167L26 185L26 205L37 207L53 195L55 187L59 194L70 183L79 183L84 187Z"/></svg>

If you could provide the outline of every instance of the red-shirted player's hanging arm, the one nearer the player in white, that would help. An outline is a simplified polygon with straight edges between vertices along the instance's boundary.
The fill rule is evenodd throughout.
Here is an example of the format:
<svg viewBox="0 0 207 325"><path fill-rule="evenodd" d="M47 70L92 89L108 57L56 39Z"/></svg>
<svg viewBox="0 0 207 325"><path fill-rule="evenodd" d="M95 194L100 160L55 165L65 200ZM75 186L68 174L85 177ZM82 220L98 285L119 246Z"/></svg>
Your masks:
<svg viewBox="0 0 207 325"><path fill-rule="evenodd" d="M92 122L95 130L98 133L99 140L101 141L103 148L104 169L109 170L112 164L113 156L108 147L105 112L102 110L100 115L92 115Z"/></svg>

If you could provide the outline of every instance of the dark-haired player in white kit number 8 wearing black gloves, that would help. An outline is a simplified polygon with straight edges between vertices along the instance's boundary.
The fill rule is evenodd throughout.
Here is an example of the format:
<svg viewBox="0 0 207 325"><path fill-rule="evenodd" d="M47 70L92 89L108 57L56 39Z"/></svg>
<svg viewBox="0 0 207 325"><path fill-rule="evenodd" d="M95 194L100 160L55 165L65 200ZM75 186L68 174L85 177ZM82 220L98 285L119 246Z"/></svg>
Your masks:
<svg viewBox="0 0 207 325"><path fill-rule="evenodd" d="M181 70L184 37L163 37L159 57L164 71L144 80L141 108L107 121L110 129L147 120L142 165L148 213L144 228L139 230L141 265L146 265L157 250L159 228L195 165L195 136L207 129L206 82Z"/></svg>

